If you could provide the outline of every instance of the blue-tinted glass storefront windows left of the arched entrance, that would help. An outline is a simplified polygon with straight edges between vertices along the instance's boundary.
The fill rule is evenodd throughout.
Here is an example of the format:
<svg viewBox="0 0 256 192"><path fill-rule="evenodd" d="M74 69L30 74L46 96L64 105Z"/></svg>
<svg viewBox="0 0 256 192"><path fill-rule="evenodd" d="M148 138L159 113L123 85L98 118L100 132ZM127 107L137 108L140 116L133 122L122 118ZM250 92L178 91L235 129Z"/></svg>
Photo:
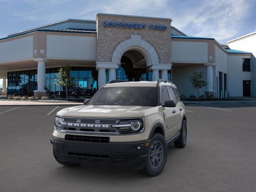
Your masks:
<svg viewBox="0 0 256 192"><path fill-rule="evenodd" d="M45 74L46 95L66 97L66 90L54 84L59 68L47 68ZM97 91L98 72L95 67L72 67L70 71L74 86L68 90L69 97L91 97ZM8 72L8 94L32 96L37 90L37 70Z"/></svg>

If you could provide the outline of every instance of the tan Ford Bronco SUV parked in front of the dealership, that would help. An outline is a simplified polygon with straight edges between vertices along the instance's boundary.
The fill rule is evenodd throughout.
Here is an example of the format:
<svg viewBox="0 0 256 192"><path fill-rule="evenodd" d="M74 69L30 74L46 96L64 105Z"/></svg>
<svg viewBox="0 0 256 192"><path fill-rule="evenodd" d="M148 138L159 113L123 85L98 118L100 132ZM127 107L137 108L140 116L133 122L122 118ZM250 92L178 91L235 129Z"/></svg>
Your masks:
<svg viewBox="0 0 256 192"><path fill-rule="evenodd" d="M184 148L186 138L184 104L174 84L114 80L83 106L60 110L51 143L65 166L131 166L156 176L166 164L168 144Z"/></svg>

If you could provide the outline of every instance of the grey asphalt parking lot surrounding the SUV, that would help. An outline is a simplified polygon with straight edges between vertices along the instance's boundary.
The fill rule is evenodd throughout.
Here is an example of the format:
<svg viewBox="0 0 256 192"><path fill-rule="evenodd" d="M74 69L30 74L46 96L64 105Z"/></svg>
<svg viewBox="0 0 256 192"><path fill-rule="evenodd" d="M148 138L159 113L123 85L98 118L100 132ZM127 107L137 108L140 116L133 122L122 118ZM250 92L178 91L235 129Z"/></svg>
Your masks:
<svg viewBox="0 0 256 192"><path fill-rule="evenodd" d="M0 106L1 192L256 191L256 103L188 104L187 145L171 145L164 171L152 178L130 168L58 164L50 137L62 108Z"/></svg>

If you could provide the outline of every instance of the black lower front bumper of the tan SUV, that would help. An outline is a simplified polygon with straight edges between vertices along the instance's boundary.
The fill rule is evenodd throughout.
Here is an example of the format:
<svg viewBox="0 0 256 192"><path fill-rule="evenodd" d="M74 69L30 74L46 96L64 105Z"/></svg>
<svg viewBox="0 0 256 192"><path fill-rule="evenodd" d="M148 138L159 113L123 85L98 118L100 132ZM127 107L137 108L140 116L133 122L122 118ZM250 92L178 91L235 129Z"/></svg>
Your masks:
<svg viewBox="0 0 256 192"><path fill-rule="evenodd" d="M52 137L54 154L61 162L130 166L142 169L148 142L78 142ZM145 143L147 143L145 145Z"/></svg>

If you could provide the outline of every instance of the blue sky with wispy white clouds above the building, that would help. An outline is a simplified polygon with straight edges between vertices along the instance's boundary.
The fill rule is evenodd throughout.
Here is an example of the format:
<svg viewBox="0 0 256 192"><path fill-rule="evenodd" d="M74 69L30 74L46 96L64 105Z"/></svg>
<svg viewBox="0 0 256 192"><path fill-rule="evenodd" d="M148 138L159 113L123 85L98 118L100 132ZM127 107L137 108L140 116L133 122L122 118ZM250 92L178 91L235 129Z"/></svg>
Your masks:
<svg viewBox="0 0 256 192"><path fill-rule="evenodd" d="M0 38L67 18L95 20L98 12L171 18L188 36L221 44L256 31L255 0L0 0Z"/></svg>

